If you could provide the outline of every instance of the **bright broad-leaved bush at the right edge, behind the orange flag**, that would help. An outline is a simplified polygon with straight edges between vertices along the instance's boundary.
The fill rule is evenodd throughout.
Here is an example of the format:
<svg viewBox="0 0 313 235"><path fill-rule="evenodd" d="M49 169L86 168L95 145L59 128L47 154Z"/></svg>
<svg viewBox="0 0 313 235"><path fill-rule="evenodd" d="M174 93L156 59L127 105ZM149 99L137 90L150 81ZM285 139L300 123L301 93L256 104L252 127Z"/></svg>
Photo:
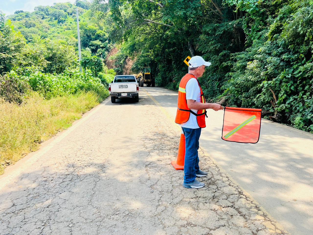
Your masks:
<svg viewBox="0 0 313 235"><path fill-rule="evenodd" d="M233 55L230 105L261 107L313 133L312 12L308 1L286 4L264 39Z"/></svg>

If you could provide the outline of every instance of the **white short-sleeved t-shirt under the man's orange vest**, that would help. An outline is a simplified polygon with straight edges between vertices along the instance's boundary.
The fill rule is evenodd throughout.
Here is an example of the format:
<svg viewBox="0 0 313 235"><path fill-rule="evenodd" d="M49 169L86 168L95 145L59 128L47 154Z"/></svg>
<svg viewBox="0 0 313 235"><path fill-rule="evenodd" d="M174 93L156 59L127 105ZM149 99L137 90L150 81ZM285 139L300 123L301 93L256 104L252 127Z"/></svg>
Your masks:
<svg viewBox="0 0 313 235"><path fill-rule="evenodd" d="M197 79L191 78L186 84L186 99L195 100L200 102L200 87ZM197 113L197 109L191 109L193 112ZM179 124L181 127L196 129L199 128L197 122L197 116L190 113L189 120L185 123Z"/></svg>

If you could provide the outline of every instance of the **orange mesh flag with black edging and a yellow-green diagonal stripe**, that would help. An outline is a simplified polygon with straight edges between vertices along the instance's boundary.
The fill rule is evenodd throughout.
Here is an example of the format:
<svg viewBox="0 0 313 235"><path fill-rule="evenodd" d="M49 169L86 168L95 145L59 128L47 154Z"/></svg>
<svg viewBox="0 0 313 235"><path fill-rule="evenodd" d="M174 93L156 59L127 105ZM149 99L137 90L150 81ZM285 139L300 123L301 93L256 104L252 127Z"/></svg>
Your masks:
<svg viewBox="0 0 313 235"><path fill-rule="evenodd" d="M255 144L259 141L262 109L224 108L222 139Z"/></svg>

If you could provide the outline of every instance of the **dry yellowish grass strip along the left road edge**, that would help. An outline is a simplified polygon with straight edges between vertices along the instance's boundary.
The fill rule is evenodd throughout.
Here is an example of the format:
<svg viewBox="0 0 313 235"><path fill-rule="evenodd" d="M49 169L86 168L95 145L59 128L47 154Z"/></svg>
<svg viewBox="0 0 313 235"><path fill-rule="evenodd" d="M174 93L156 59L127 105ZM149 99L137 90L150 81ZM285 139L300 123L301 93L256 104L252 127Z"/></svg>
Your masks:
<svg viewBox="0 0 313 235"><path fill-rule="evenodd" d="M0 99L0 175L39 143L66 129L82 114L99 104L93 92L44 100L36 92L22 105Z"/></svg>

